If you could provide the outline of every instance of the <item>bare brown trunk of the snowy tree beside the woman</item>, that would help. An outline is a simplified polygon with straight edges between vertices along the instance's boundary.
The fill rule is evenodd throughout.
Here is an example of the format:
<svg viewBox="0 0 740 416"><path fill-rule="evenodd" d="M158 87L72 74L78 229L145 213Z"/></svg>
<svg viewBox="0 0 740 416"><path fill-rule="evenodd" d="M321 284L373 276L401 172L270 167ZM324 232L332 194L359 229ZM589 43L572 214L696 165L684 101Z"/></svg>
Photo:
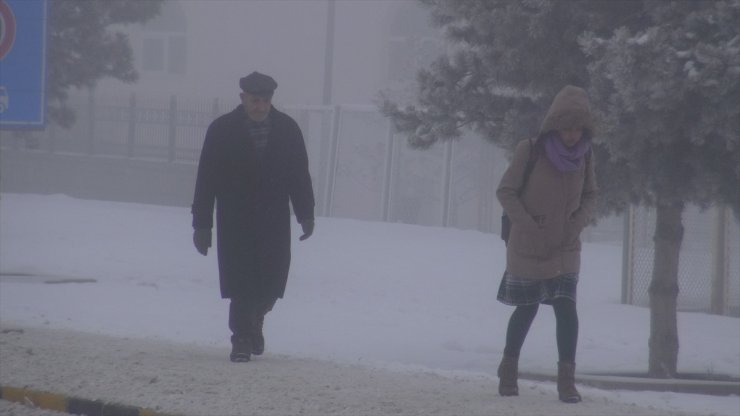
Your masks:
<svg viewBox="0 0 740 416"><path fill-rule="evenodd" d="M678 259L683 240L683 204L658 202L655 258L650 282L650 361L653 377L674 377L678 362Z"/></svg>

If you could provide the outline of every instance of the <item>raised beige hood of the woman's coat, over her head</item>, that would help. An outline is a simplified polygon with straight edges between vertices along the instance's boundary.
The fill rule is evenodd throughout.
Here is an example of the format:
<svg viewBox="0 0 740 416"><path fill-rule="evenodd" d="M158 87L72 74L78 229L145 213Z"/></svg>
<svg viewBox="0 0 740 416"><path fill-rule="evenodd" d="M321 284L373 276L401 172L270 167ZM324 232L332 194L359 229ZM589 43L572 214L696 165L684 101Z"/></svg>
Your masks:
<svg viewBox="0 0 740 416"><path fill-rule="evenodd" d="M540 134L570 127L581 127L588 137L593 137L594 124L588 94L583 88L567 85L553 99L540 127Z"/></svg>

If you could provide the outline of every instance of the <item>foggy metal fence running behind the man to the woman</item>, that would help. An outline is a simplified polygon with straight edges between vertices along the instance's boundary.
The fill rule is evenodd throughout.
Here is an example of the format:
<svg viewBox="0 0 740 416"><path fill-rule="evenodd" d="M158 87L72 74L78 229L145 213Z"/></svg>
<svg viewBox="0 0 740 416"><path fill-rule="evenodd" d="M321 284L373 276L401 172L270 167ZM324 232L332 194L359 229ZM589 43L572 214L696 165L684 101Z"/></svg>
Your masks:
<svg viewBox="0 0 740 416"><path fill-rule="evenodd" d="M72 94L70 129L3 140L51 153L197 163L209 123L237 102ZM286 106L304 133L322 216L497 231L506 159L469 137L418 151L374 106ZM3 137L10 133L3 132Z"/></svg>

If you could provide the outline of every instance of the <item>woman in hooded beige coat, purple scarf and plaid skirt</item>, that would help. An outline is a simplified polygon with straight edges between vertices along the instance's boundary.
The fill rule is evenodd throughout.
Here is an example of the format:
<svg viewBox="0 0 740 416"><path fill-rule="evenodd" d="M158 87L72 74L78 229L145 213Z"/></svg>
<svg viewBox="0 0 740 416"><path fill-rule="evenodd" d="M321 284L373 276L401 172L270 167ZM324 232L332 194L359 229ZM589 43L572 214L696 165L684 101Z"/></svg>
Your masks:
<svg viewBox="0 0 740 416"><path fill-rule="evenodd" d="M576 403L576 285L580 234L596 196L593 121L586 92L566 86L553 100L538 136L523 140L496 196L511 220L506 272L498 300L516 306L498 368L499 394L516 396L519 352L540 303L552 305L558 346L558 394ZM528 166L529 165L529 166Z"/></svg>

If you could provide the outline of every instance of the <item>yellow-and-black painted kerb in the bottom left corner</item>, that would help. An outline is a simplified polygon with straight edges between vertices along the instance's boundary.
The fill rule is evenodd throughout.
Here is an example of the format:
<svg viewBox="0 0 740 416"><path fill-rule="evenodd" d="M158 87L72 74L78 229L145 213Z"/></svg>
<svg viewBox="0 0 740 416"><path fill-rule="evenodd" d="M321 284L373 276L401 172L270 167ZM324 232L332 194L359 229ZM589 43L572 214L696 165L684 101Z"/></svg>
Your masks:
<svg viewBox="0 0 740 416"><path fill-rule="evenodd" d="M0 386L0 399L31 405L40 409L86 416L175 416L143 407L67 397L61 394L12 386Z"/></svg>

